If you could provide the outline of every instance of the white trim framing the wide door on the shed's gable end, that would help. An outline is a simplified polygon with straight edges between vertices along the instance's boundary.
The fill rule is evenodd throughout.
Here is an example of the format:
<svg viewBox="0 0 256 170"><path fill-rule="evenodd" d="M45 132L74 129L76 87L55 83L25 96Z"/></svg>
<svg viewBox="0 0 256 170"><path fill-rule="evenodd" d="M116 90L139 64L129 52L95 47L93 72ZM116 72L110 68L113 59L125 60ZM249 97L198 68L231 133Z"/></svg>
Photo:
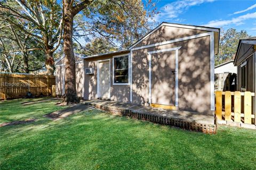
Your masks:
<svg viewBox="0 0 256 170"><path fill-rule="evenodd" d="M163 52L171 52L171 51L174 51L175 50L175 106L178 107L179 105L179 94L178 94L178 88L179 88L179 85L178 85L178 71L179 71L179 66L178 66L178 58L179 58L179 49L181 48L180 47L174 47L174 48L168 48L168 49L162 49L162 50L156 50L156 51L153 51L153 52L148 52L148 61L149 61L149 68L148 68L148 74L149 74L149 94L148 94L148 101L149 101L149 104L151 104L151 86L152 86L152 78L151 78L151 72L152 72L152 69L151 69L151 54L156 54L156 53L163 53Z"/></svg>

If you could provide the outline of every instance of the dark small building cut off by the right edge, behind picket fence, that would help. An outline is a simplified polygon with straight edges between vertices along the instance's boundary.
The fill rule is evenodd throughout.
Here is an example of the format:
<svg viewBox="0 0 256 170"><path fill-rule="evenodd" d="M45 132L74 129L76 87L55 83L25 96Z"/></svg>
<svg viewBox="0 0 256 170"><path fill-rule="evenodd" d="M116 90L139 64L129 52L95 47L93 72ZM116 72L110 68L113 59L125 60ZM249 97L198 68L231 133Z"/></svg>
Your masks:
<svg viewBox="0 0 256 170"><path fill-rule="evenodd" d="M256 37L239 40L234 64L237 90L256 92Z"/></svg>

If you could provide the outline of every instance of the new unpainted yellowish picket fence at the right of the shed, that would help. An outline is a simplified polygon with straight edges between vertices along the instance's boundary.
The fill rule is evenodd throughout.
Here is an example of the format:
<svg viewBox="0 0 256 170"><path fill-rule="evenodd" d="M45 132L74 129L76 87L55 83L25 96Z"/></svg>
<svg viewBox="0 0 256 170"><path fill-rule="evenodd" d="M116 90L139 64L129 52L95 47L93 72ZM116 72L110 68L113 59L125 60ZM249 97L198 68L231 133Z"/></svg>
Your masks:
<svg viewBox="0 0 256 170"><path fill-rule="evenodd" d="M218 121L256 124L254 92L215 91L215 98L215 114Z"/></svg>

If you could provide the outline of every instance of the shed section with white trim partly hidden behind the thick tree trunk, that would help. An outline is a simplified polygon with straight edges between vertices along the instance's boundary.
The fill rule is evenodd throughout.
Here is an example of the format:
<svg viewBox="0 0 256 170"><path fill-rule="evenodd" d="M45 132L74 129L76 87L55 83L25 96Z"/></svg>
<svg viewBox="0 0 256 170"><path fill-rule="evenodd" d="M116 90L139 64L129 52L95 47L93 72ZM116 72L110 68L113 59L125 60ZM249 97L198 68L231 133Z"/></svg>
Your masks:
<svg viewBox="0 0 256 170"><path fill-rule="evenodd" d="M84 90L84 62L83 58L86 55L75 53L76 60L76 91L77 96L83 98ZM56 95L63 96L65 94L65 56L62 55L55 61L56 75Z"/></svg>

